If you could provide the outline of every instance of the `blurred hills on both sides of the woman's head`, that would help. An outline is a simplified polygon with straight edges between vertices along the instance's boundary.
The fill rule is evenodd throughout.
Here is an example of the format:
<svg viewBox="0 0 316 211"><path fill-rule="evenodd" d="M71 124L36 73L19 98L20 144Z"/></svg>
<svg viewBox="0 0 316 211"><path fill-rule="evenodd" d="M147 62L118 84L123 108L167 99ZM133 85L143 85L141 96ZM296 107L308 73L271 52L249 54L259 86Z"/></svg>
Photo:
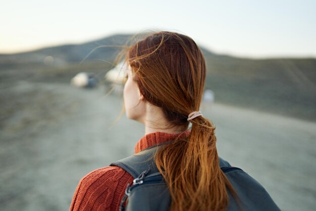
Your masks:
<svg viewBox="0 0 316 211"><path fill-rule="evenodd" d="M103 78L113 67L119 46L129 43L131 36L117 34L82 44L2 54L0 82L13 80L13 75L21 79L25 74L33 77L34 72L36 80L69 82L80 71L95 72ZM248 59L200 48L207 66L205 89L215 92L216 101L316 120L316 59Z"/></svg>

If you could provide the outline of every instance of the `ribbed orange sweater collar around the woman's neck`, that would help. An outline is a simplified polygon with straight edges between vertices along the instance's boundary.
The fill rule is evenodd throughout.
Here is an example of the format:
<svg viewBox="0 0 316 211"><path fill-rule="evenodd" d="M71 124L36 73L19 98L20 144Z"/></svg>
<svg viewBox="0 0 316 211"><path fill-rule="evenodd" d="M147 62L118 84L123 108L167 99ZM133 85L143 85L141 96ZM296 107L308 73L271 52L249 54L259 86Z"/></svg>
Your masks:
<svg viewBox="0 0 316 211"><path fill-rule="evenodd" d="M178 136L185 137L190 134L191 130L186 130L182 133L165 133L165 132L153 132L144 135L135 145L135 153L138 153L148 147L175 140Z"/></svg>

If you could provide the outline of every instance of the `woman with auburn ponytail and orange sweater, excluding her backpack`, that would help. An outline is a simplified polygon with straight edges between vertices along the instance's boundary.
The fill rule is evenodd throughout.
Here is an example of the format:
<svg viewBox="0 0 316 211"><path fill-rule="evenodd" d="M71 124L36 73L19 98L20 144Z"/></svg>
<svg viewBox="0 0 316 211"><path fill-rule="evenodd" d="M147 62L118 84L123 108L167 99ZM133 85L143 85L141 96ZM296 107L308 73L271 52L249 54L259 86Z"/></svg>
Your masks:
<svg viewBox="0 0 316 211"><path fill-rule="evenodd" d="M135 153L165 143L154 161L170 210L226 210L228 192L236 201L238 195L220 168L215 127L198 112L206 74L200 48L188 36L161 31L127 50L126 116L145 126ZM132 182L120 167L95 170L81 179L70 210L119 210Z"/></svg>

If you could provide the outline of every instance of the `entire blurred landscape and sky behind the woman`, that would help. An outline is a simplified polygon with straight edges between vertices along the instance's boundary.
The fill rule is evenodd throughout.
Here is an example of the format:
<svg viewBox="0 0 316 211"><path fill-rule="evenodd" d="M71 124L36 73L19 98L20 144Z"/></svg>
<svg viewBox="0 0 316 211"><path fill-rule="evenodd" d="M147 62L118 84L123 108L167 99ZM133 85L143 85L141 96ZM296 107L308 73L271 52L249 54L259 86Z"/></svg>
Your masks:
<svg viewBox="0 0 316 211"><path fill-rule="evenodd" d="M68 210L84 175L134 152L117 45L157 30L203 51L219 155L282 210L315 209L314 1L1 3L1 210Z"/></svg>

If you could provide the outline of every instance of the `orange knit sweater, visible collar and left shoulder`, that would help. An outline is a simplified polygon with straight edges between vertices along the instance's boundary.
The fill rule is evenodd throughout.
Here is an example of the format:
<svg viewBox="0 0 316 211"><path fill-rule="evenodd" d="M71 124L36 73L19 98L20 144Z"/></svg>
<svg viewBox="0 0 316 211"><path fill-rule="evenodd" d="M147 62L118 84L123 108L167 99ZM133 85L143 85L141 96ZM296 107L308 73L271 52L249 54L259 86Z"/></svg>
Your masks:
<svg viewBox="0 0 316 211"><path fill-rule="evenodd" d="M180 135L186 136L189 133L190 130L187 130ZM136 143L135 153L174 140L178 135L164 132L146 134ZM111 166L92 171L80 180L69 210L117 211L127 184L132 182L133 177L120 167Z"/></svg>

